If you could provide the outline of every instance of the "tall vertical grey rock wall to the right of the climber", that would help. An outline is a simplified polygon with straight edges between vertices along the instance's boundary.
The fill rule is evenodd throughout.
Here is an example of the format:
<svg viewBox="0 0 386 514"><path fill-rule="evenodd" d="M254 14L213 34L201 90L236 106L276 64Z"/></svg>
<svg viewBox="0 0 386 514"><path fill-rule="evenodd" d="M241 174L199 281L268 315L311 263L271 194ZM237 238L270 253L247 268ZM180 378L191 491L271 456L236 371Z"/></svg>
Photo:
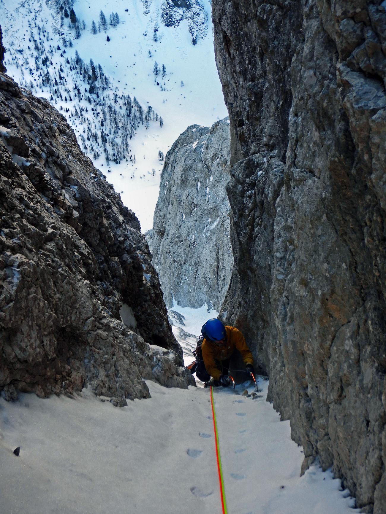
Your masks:
<svg viewBox="0 0 386 514"><path fill-rule="evenodd" d="M386 12L213 0L231 121L222 306L270 375L305 469L386 505Z"/></svg>

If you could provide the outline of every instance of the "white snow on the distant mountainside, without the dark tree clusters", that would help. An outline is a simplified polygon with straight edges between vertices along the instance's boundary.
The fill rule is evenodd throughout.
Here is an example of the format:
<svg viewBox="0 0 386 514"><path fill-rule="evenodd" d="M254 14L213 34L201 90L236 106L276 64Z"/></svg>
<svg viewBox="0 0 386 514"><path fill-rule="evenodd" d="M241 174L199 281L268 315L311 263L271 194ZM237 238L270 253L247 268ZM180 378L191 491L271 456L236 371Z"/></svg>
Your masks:
<svg viewBox="0 0 386 514"><path fill-rule="evenodd" d="M23 85L27 83L28 86L32 81L34 94L50 99L52 91L49 87L36 87L39 84L40 70L36 71L33 43L29 41L31 29L39 45L44 46L47 52L49 45L55 50L52 55L49 54L52 65L48 69L53 75L62 64L66 86L70 90L76 76L64 63L67 57L74 59L77 50L85 63L93 59L96 65L101 64L104 74L110 79L110 97L114 93L118 97L122 94L130 95L131 99L136 97L145 111L151 105L163 118L162 128L156 122L151 122L148 130L141 125L135 137L130 140L130 153L135 155L135 163L126 160L119 164L111 162L109 173L103 154L93 159L95 166L107 175L116 191L120 192L124 204L136 213L143 231L152 226L153 211L159 193L162 162L158 159L158 152L161 150L166 154L186 126L192 123L211 125L227 115L215 64L210 0L200 2L208 13L208 29L203 32L206 35L198 39L195 46L191 43L192 36L189 32L191 20L185 19L178 26L166 27L162 22L162 2L159 0L130 0L126 5L120 0L111 0L108 4L104 0L76 0L74 10L77 19L81 25L84 21L85 25L79 39L75 38L73 28L68 28L71 27L68 19L64 19L64 25L60 27L60 14L55 9L55 2L24 0L15 3L14 0L2 0L0 3L3 43L7 49L7 72ZM92 34L92 21L98 23L100 10L103 10L107 18L111 12L117 12L121 23L117 27L108 27L107 32L101 30ZM39 35L35 24L41 30L44 27L48 37L44 37L42 32ZM159 27L156 32L157 42L152 38L156 25ZM106 41L107 35L109 42ZM71 40L73 47L66 47L66 53L61 58L63 37L68 42ZM57 45L60 46L60 51L57 50ZM28 50L28 46L31 50ZM40 61L41 58L38 59L38 64ZM154 83L153 75L155 61L166 67L166 76L163 79L161 76L157 77L160 83L158 86ZM184 86L181 86L181 81ZM87 152L81 140L86 122L79 120L74 114L70 117L71 111L74 113L75 103L57 99L50 101L57 108L62 105L62 114L72 124L81 147ZM87 102L80 99L76 105L84 108ZM66 107L69 109L68 113L65 112ZM90 113L83 112L83 117L91 120L90 116ZM98 130L98 125L93 127ZM89 146L89 143L85 142L85 145ZM89 156L93 158L90 152ZM154 176L152 170L155 171ZM131 178L133 174L134 178Z"/></svg>

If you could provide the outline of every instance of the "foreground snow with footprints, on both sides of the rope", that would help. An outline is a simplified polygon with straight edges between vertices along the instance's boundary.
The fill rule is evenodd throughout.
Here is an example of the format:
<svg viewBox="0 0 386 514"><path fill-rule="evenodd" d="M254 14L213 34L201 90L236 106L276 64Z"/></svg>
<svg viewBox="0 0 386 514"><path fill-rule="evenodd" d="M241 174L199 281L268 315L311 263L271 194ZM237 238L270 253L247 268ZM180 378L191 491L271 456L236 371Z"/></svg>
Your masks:
<svg viewBox="0 0 386 514"><path fill-rule="evenodd" d="M147 384L150 399L121 409L87 390L0 398L2 514L221 512L209 390ZM299 476L302 449L259 385L256 399L214 391L229 514L359 512L329 471Z"/></svg>

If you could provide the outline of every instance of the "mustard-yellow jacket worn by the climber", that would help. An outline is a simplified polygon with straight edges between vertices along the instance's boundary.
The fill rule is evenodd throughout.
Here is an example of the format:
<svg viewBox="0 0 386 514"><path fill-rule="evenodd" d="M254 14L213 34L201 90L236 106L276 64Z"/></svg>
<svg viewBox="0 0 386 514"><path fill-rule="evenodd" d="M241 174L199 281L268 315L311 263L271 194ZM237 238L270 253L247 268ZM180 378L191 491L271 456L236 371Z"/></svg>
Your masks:
<svg viewBox="0 0 386 514"><path fill-rule="evenodd" d="M245 364L253 365L253 357L251 351L248 348L244 336L241 334L241 332L234 326L225 326L225 331L226 340L223 344L216 344L214 341L204 339L201 345L202 358L204 359L206 371L215 380L218 380L221 375L220 370L215 364L215 359L229 359L229 357L231 357L235 351L235 348L237 348L237 350L240 352Z"/></svg>

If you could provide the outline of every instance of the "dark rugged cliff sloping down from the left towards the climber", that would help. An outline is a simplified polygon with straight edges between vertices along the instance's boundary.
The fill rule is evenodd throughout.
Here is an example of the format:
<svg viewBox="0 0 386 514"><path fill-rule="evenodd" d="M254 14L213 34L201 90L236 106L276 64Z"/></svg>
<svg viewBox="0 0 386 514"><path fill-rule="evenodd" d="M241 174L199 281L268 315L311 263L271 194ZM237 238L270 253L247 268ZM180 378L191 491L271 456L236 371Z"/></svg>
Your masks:
<svg viewBox="0 0 386 514"><path fill-rule="evenodd" d="M191 381L137 218L65 118L4 74L0 276L7 398L16 389L46 396L90 386L124 403L149 395L143 378Z"/></svg>

